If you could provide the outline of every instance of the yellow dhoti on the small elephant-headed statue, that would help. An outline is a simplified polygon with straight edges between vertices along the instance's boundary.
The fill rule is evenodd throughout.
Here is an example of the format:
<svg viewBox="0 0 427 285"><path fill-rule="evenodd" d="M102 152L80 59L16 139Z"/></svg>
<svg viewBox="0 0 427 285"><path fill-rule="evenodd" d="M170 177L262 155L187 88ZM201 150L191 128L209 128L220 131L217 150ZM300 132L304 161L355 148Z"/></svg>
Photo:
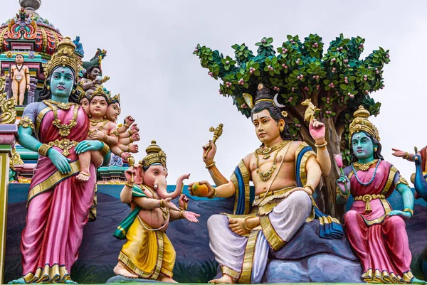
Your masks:
<svg viewBox="0 0 427 285"><path fill-rule="evenodd" d="M127 242L119 261L140 278L157 280L159 275L172 278L176 252L164 232L149 230L137 217L127 231Z"/></svg>

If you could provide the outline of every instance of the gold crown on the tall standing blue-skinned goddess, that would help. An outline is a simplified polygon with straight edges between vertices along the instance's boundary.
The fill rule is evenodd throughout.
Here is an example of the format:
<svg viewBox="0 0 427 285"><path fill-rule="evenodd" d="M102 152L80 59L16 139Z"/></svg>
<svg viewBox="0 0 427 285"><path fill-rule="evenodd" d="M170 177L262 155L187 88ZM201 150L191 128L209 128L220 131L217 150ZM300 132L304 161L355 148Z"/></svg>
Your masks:
<svg viewBox="0 0 427 285"><path fill-rule="evenodd" d="M56 52L53 53L51 60L48 60L44 66L44 75L46 78L51 75L51 72L58 66L68 66L73 69L75 76L78 76L80 71L80 58L74 53L75 44L70 38L65 37L63 41L58 43Z"/></svg>

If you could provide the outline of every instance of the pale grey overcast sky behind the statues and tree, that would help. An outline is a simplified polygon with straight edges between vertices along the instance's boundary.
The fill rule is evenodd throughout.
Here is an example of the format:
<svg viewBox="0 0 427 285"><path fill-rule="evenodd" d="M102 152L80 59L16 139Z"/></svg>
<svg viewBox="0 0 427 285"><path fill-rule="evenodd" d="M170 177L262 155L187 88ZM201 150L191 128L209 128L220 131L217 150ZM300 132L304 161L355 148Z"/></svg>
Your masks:
<svg viewBox="0 0 427 285"><path fill-rule="evenodd" d="M1 2L4 22L20 6L18 0ZM183 173L191 173L190 181L211 181L201 160L211 126L224 124L215 160L226 177L259 146L250 120L218 94L219 81L192 55L197 43L233 56L234 43L255 53L263 36L273 37L277 47L288 34L310 33L322 36L325 47L339 33L362 36L364 56L379 45L390 50L386 88L372 95L382 102L373 122L384 158L409 178L413 163L391 156L391 147L413 151L427 144L426 8L426 1L42 0L38 14L63 36L80 36L85 60L96 48L107 50L102 71L111 80L105 86L120 92L121 119L132 115L141 129L136 158L157 140L167 153L168 183L174 184Z"/></svg>

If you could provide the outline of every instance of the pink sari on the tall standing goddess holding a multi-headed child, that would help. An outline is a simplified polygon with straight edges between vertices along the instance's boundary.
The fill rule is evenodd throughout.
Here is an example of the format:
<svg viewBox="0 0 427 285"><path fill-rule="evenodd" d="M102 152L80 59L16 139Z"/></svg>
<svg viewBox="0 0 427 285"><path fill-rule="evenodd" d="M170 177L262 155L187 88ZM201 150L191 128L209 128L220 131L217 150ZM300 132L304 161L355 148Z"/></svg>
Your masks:
<svg viewBox="0 0 427 285"><path fill-rule="evenodd" d="M77 125L66 137L70 141L83 141L89 120L83 109L74 105L68 110L58 109L58 119L68 124L78 109ZM53 112L45 112L36 126L36 134L43 144L63 139L53 126ZM47 112L46 112L47 111ZM38 118L40 119L40 118ZM54 149L60 151L58 147ZM95 167L90 166L90 180L80 183L75 175L80 170L78 156L69 150L71 173L61 175L51 160L40 156L28 193L26 227L22 232L21 252L23 279L26 283L63 282L70 279L70 269L78 259L83 238L83 227L93 202L96 183Z"/></svg>

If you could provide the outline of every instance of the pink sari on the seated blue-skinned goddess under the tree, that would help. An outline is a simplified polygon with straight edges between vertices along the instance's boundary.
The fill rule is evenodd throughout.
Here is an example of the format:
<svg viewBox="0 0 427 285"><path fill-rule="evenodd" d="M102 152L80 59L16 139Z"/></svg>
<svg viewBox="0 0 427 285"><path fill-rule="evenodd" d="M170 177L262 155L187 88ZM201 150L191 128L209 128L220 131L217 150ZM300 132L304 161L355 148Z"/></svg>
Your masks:
<svg viewBox="0 0 427 285"><path fill-rule="evenodd" d="M357 171L359 181L369 182L375 166L368 171ZM408 283L413 277L405 222L399 216L388 215L392 209L385 199L394 190L396 174L399 175L397 169L386 161L381 161L374 181L367 186L360 184L354 173L349 174L353 197L384 195L370 201L371 213L366 212L363 200L355 200L344 215L347 239L362 261L362 279L366 282Z"/></svg>

